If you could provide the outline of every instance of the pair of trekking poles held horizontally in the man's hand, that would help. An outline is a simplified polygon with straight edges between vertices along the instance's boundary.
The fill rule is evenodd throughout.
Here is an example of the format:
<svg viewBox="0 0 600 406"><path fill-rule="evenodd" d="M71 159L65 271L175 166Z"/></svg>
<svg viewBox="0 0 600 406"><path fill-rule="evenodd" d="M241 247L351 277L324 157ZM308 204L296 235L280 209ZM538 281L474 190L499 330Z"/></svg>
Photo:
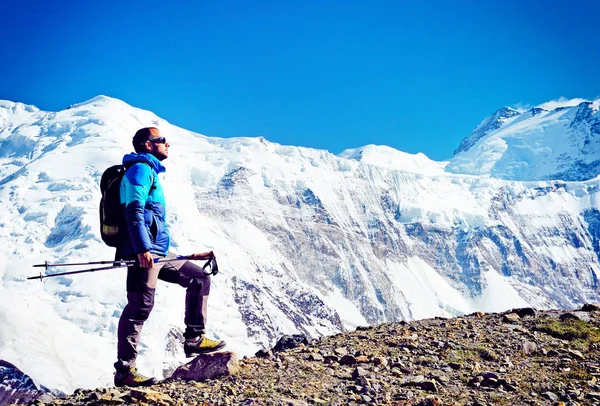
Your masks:
<svg viewBox="0 0 600 406"><path fill-rule="evenodd" d="M217 260L215 259L215 254L212 251L209 252L202 252L202 253L196 253L196 254L191 254L191 255L180 255L178 257L175 258L154 258L154 263L160 263L160 262L171 262L171 261L181 261L181 260L204 260L207 259L208 261L206 261L206 263L204 264L204 266L202 267L202 272L204 272L207 275L216 275L219 272L219 267L217 265ZM91 261L91 262L79 262L79 263L66 263L66 264L49 264L48 261L45 261L45 263L43 264L35 264L33 265L34 267L45 267L46 270L49 267L55 267L55 266L74 266L74 265L94 265L94 264L112 264L111 266L105 266L105 267L101 267L101 268L91 268L91 269L82 269L79 271L71 271L71 272L61 272L61 273L54 273L54 274L49 274L49 275L43 275L41 272L38 276L30 276L27 279L39 279L40 282L44 279L44 278L51 278L54 276L64 276L64 275L74 275L74 274L78 274L78 273L87 273L87 272L95 272L95 271L105 271L107 269L116 269L116 268L122 268L124 266L129 266L129 265L135 265L137 263L137 260L135 259L131 259L131 260L116 260L116 261ZM210 272L206 272L206 268L210 267Z"/></svg>

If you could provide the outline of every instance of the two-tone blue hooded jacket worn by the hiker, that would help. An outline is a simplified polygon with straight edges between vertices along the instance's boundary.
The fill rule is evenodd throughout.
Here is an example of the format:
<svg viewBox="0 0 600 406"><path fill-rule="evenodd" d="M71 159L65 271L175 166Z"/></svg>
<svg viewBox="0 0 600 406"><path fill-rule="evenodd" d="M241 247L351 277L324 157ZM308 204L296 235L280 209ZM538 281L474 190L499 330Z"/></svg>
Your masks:
<svg viewBox="0 0 600 406"><path fill-rule="evenodd" d="M165 195L158 180L165 167L146 152L125 155L123 165L127 170L120 196L129 238L122 241L118 255L133 257L146 251L167 255L171 237L165 221Z"/></svg>

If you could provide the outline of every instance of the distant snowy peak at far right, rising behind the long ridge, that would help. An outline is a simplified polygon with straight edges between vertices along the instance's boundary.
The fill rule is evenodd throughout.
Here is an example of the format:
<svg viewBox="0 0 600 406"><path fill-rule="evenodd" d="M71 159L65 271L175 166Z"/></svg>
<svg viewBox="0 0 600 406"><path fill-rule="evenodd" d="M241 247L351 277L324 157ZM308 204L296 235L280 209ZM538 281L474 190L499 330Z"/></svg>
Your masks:
<svg viewBox="0 0 600 406"><path fill-rule="evenodd" d="M600 100L503 107L465 138L452 173L510 180L588 180L600 173Z"/></svg>

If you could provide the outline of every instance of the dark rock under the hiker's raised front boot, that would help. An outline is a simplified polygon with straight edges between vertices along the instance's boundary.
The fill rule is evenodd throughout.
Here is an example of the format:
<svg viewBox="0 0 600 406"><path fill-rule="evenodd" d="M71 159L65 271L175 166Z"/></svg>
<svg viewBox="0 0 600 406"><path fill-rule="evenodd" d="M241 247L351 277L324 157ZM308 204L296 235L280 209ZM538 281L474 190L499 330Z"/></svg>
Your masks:
<svg viewBox="0 0 600 406"><path fill-rule="evenodd" d="M177 368L172 377L174 379L202 381L232 375L238 370L239 364L235 353L230 351L216 352L197 356L192 361Z"/></svg>

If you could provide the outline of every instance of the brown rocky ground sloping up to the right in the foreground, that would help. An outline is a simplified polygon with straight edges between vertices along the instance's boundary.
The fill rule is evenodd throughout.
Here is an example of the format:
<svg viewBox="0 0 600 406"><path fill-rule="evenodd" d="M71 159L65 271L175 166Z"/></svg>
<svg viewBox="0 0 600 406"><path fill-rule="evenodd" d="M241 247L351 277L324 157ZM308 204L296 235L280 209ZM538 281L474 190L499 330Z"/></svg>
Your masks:
<svg viewBox="0 0 600 406"><path fill-rule="evenodd" d="M242 359L217 379L78 390L51 404L598 405L599 328L594 305L360 327L281 341L296 346Z"/></svg>

